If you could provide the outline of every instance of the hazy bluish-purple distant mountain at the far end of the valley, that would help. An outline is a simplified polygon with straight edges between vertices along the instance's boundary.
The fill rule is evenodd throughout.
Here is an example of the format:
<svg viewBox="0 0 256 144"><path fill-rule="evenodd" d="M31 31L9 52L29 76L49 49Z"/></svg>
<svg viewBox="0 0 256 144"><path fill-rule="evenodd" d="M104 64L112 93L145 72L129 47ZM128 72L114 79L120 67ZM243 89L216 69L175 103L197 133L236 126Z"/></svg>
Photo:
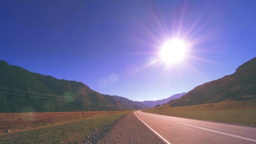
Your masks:
<svg viewBox="0 0 256 144"><path fill-rule="evenodd" d="M157 101L139 101L139 102L148 106L149 108L152 108L152 107L155 107L156 105L167 104L172 99L179 99L184 94L186 94L186 93L184 92L184 93L175 94L173 96L168 97L167 99L161 99L161 100L157 100Z"/></svg>

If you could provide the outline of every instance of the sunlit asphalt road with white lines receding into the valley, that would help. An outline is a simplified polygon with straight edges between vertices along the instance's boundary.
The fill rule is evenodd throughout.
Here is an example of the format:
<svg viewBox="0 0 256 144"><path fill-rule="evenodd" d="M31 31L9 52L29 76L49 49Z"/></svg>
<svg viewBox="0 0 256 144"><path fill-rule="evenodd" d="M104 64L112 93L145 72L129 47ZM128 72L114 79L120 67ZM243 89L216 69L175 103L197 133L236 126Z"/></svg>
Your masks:
<svg viewBox="0 0 256 144"><path fill-rule="evenodd" d="M136 111L155 135L171 144L256 144L256 128Z"/></svg>

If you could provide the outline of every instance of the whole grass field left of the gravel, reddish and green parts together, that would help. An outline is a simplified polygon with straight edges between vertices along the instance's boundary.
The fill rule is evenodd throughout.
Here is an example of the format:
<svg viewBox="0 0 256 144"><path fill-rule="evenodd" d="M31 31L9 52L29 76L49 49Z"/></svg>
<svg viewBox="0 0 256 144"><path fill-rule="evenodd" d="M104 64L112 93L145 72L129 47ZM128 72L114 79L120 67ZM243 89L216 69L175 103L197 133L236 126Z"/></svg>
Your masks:
<svg viewBox="0 0 256 144"><path fill-rule="evenodd" d="M75 143L128 112L84 112L83 119L81 112L0 113L0 143Z"/></svg>

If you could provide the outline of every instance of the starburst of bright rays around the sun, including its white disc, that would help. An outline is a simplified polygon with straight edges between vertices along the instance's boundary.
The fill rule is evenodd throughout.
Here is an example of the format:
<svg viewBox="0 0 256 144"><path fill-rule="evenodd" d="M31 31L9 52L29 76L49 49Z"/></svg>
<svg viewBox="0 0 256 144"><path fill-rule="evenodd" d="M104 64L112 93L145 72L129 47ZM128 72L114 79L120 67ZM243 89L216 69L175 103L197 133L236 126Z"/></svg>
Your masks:
<svg viewBox="0 0 256 144"><path fill-rule="evenodd" d="M168 85L173 79L173 75L178 75L179 81L186 79L189 75L197 75L197 78L205 78L203 73L199 72L193 63L208 63L219 64L213 60L200 57L203 53L214 53L214 48L203 47L204 43L211 42L219 38L219 31L217 28L207 29L208 25L213 20L213 17L207 21L202 21L204 13L197 13L193 15L189 13L186 5L181 9L173 11L171 17L165 17L161 11L157 14L151 8L149 15L155 21L156 29L147 29L142 24L137 24L137 29L152 41L137 39L141 43L146 44L149 49L153 51L140 52L142 54L152 57L157 57L154 62L149 61L147 64L141 65L139 71L143 69L158 66L162 68L156 87L161 85ZM188 17L189 16L189 17ZM178 18L178 20L177 20ZM159 35L159 33L161 35ZM171 34L171 35L170 35ZM218 51L218 50L216 50ZM199 80L198 80L199 81Z"/></svg>

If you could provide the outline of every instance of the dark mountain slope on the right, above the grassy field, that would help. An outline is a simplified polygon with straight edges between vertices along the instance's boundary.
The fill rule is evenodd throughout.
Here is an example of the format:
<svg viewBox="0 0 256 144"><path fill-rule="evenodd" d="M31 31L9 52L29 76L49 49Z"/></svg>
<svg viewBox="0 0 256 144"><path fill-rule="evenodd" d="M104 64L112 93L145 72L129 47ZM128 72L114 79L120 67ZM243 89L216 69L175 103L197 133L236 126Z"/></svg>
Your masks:
<svg viewBox="0 0 256 144"><path fill-rule="evenodd" d="M199 85L181 98L169 101L169 104L175 107L225 100L256 100L256 57L239 66L233 74Z"/></svg>

